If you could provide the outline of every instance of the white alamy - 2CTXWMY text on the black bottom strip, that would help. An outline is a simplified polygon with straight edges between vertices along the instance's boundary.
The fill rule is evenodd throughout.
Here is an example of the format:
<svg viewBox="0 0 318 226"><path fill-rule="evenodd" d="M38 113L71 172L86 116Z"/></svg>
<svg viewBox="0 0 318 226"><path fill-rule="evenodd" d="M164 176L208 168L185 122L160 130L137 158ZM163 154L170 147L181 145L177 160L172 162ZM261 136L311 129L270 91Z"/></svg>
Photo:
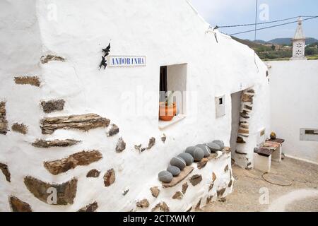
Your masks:
<svg viewBox="0 0 318 226"><path fill-rule="evenodd" d="M124 217L123 222L140 222L143 225L147 220L151 222L194 222L195 217L195 215L155 215L153 218L148 218L128 215Z"/></svg>

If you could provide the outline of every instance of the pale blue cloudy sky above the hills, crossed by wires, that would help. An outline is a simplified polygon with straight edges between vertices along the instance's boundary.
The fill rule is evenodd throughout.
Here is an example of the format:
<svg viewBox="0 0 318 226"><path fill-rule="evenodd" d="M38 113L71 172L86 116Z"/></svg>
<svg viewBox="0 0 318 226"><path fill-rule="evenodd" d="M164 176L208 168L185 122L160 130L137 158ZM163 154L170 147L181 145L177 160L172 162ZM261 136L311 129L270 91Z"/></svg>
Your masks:
<svg viewBox="0 0 318 226"><path fill-rule="evenodd" d="M236 25L254 23L256 0L192 0L201 16L211 25ZM266 4L266 5L264 5ZM317 0L259 0L259 6L268 8L269 21L291 18L294 16L318 16ZM266 8L259 8L258 23L266 22L259 16L266 18ZM265 17L264 17L265 16ZM293 20L283 21L281 23ZM273 23L269 25L276 25ZM265 26L269 26L265 25ZM264 26L264 25L263 25ZM269 41L276 37L293 37L297 24L284 25L278 28L259 30L257 40ZM306 37L318 39L318 18L304 21L303 28ZM227 34L252 30L253 27L222 28L220 31ZM242 39L254 40L254 32L235 35Z"/></svg>

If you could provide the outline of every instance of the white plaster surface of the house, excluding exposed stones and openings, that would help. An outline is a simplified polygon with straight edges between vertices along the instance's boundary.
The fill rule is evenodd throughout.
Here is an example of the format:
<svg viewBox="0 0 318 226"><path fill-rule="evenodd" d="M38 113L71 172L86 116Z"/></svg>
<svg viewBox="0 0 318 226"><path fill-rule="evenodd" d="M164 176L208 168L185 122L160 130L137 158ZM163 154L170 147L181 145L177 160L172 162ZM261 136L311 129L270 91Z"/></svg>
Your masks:
<svg viewBox="0 0 318 226"><path fill-rule="evenodd" d="M218 31L216 42L214 34L206 32L208 23L185 0L6 0L0 2L0 18L0 100L6 101L9 127L15 122L28 126L26 135L13 131L0 134L0 162L11 172L11 182L6 182L0 172L1 211L11 210L8 196L20 198L34 211L76 211L94 201L98 203L97 211L150 211L163 201L170 211L194 210L200 200L199 207L206 205L209 196L215 201L219 189L226 189L224 196L231 193L230 154L211 160L203 169L194 164L189 177L201 174L202 182L192 186L187 177L184 182L189 188L181 200L172 200L172 196L184 182L163 189L158 172L188 146L216 139L230 146L231 93L247 88L255 91L245 145L247 155L242 158L234 154L232 158L240 159L240 165L247 167L253 162L259 130L265 128L266 137L271 132L266 65L257 56L255 64L252 49ZM145 56L146 66L99 69L101 49L109 42L110 55ZM42 64L40 58L47 54L66 61ZM187 83L182 84L189 92L184 111L187 116L160 130L160 66L175 64L187 64ZM42 83L40 88L17 85L16 76L38 76ZM305 92L305 88L302 90ZM216 119L215 97L223 95L225 116ZM40 102L53 99L65 100L64 110L45 114ZM111 124L119 126L119 134L107 137L107 129L41 133L40 119L44 117L87 113L110 119ZM160 141L163 133L167 136L165 143ZM116 153L120 136L126 149ZM144 147L151 137L156 139L151 150L135 150L134 145ZM30 145L37 138L74 138L82 142L68 148L44 149ZM81 150L100 150L102 160L58 175L43 167L44 161L59 160ZM228 172L224 172L226 165L230 166ZM116 180L105 187L103 175L112 168ZM100 170L100 177L86 178L90 169ZM213 172L217 179L208 191ZM74 203L52 206L40 201L25 187L26 176L57 184L76 177ZM158 198L151 196L149 189L153 186L160 189ZM143 198L150 206L137 208L136 201Z"/></svg>

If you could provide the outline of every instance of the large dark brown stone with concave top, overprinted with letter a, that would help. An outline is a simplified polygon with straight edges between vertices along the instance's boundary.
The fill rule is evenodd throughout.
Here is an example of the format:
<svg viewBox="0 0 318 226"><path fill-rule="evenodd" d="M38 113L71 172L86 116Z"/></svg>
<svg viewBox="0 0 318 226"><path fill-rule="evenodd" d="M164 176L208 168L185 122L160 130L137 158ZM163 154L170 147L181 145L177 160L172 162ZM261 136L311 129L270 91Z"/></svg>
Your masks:
<svg viewBox="0 0 318 226"><path fill-rule="evenodd" d="M76 196L77 179L73 178L69 182L63 184L49 184L42 182L40 179L34 177L25 177L24 184L28 190L40 201L48 203L49 197L52 196L52 189L57 191L57 203L52 205L68 205L73 204L73 200Z"/></svg>

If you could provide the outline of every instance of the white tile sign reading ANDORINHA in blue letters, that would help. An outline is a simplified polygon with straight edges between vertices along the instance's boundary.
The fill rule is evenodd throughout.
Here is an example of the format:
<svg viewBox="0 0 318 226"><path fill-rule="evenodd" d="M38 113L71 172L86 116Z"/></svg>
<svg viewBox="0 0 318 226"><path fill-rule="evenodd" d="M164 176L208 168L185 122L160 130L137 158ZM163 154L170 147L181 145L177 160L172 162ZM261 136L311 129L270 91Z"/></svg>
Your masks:
<svg viewBox="0 0 318 226"><path fill-rule="evenodd" d="M108 66L146 66L146 57L144 56L110 56Z"/></svg>

